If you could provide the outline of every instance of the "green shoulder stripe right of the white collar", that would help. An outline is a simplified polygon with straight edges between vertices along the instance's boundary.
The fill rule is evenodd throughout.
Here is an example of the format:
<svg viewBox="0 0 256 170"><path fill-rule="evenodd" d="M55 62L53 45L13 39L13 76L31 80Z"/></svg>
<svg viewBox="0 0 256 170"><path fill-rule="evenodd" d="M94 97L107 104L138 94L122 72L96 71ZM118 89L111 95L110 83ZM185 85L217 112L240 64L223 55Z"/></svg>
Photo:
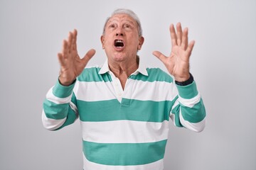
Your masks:
<svg viewBox="0 0 256 170"><path fill-rule="evenodd" d="M165 81L168 83L173 82L173 79L169 74L166 72L162 71L159 68L147 68L146 71L148 72L148 76L145 76L143 74L137 74L137 75L132 75L130 76L131 79L136 79L136 80L142 80L142 81Z"/></svg>

